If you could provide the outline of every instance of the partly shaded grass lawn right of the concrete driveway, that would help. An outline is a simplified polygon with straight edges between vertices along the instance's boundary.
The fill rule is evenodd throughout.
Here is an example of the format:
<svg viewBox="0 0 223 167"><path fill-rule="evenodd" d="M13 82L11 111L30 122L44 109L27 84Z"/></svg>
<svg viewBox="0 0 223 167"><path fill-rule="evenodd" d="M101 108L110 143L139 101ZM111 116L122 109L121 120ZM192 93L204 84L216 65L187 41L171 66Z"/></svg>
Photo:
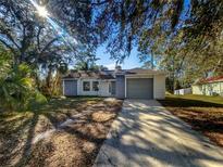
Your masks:
<svg viewBox="0 0 223 167"><path fill-rule="evenodd" d="M223 146L223 98L194 94L166 95L166 99L160 102L172 114Z"/></svg>

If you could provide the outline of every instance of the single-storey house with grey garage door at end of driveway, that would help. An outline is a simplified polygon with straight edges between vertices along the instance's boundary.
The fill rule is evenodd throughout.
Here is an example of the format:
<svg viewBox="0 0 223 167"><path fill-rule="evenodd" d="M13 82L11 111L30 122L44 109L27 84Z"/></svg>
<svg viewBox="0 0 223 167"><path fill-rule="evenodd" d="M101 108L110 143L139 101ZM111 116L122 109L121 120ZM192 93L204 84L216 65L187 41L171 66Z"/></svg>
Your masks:
<svg viewBox="0 0 223 167"><path fill-rule="evenodd" d="M164 99L165 73L151 69L71 72L63 77L63 94L114 97L117 99Z"/></svg>

